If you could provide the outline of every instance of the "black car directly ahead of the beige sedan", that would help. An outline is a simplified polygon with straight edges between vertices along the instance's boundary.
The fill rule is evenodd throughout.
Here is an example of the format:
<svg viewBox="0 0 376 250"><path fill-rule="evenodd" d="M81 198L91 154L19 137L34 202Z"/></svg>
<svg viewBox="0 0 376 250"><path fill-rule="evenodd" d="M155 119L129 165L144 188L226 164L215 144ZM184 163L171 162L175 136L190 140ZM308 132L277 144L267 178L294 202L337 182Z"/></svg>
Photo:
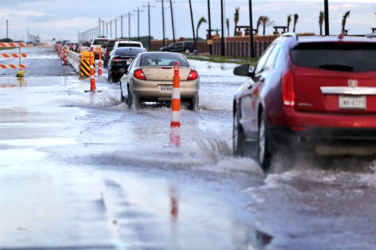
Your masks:
<svg viewBox="0 0 376 250"><path fill-rule="evenodd" d="M140 47L120 47L112 51L108 65L109 82L118 82L138 53L146 52Z"/></svg>

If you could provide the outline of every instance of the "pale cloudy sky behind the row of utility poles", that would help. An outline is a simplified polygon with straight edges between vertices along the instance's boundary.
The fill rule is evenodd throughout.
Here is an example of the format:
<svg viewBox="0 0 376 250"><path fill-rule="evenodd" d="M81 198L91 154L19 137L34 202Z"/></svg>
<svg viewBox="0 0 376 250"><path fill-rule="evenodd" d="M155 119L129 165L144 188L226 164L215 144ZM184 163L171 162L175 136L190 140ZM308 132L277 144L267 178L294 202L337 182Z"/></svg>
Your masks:
<svg viewBox="0 0 376 250"><path fill-rule="evenodd" d="M238 25L249 25L248 0L223 0L224 19L229 19L229 33L234 33L235 8L240 7ZM120 38L121 16L123 16L123 36L131 37L148 35L148 3L150 3L150 35L155 39L163 38L162 0L12 0L2 1L0 9L0 38L24 40L29 36L38 35L43 42L70 40L77 42L79 33L98 27L99 19L105 22L104 35ZM175 23L175 38L192 38L191 15L189 0L173 0L173 20ZM164 0L164 37L173 38L171 25L170 1ZM208 21L207 0L191 0L194 30L201 17ZM140 12L137 12L140 10ZM258 17L266 15L274 25L285 26L287 15L297 13L299 19L296 25L298 33L320 33L318 17L324 10L324 0L253 0L253 28L256 28ZM329 31L331 35L341 31L341 20L345 12L350 10L346 29L350 35L363 35L376 27L375 0L329 0ZM129 15L130 18L125 17ZM212 29L221 28L221 0L210 0L210 16ZM8 22L6 21L8 20ZM115 31L115 20L117 29ZM130 20L130 23L128 21ZM110 28L111 23L111 28ZM102 26L102 24L101 24ZM131 28L129 29L128 26ZM225 22L226 29L226 22ZM292 24L290 26L292 28ZM205 38L208 22L198 29L198 36ZM102 30L102 28L101 28ZM274 28L266 28L266 34L272 34ZM227 31L224 31L227 35ZM103 31L101 31L103 33ZM197 35L196 35L197 36Z"/></svg>

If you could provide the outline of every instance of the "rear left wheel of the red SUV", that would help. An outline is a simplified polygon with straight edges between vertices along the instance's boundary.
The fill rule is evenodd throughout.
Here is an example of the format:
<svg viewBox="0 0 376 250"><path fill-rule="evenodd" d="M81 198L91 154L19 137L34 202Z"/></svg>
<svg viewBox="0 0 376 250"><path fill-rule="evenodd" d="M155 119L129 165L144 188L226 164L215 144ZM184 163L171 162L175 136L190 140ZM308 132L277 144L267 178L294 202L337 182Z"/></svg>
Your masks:
<svg viewBox="0 0 376 250"><path fill-rule="evenodd" d="M257 156L258 163L263 168L265 172L269 172L271 161L272 161L272 152L271 144L269 142L269 131L267 128L267 121L265 113L261 113L260 122L258 124L258 147L257 147Z"/></svg>

